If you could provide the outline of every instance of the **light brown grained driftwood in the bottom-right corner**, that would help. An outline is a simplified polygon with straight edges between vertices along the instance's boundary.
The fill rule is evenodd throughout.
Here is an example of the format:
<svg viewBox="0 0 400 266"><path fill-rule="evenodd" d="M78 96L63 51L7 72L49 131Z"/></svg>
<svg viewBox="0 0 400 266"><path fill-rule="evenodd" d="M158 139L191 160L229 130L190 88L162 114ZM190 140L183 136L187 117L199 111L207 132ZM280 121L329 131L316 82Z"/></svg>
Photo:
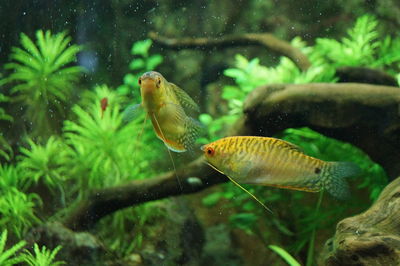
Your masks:
<svg viewBox="0 0 400 266"><path fill-rule="evenodd" d="M364 213L338 223L328 240L322 264L399 265L400 177L390 183Z"/></svg>

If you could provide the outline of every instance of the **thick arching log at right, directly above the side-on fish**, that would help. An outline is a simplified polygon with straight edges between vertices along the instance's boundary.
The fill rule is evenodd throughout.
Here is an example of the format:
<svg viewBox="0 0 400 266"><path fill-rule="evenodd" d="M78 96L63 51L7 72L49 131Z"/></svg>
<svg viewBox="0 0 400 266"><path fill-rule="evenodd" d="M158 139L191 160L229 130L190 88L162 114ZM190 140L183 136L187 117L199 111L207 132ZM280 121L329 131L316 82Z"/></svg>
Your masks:
<svg viewBox="0 0 400 266"><path fill-rule="evenodd" d="M400 88L360 83L279 84L257 88L244 105L244 134L271 136L310 127L350 142L400 173Z"/></svg>

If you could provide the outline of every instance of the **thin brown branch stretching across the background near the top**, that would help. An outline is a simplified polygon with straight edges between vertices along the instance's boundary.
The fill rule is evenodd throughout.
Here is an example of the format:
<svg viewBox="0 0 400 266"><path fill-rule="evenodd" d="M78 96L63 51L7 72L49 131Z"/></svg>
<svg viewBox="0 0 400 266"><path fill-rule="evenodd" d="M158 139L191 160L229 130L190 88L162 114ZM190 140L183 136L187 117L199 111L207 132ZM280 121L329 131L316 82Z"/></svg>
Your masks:
<svg viewBox="0 0 400 266"><path fill-rule="evenodd" d="M225 35L220 38L168 38L155 32L149 38L156 44L168 49L225 49L228 47L258 45L280 55L290 58L301 70L307 70L311 63L308 58L290 43L278 39L270 33L247 33L241 35Z"/></svg>

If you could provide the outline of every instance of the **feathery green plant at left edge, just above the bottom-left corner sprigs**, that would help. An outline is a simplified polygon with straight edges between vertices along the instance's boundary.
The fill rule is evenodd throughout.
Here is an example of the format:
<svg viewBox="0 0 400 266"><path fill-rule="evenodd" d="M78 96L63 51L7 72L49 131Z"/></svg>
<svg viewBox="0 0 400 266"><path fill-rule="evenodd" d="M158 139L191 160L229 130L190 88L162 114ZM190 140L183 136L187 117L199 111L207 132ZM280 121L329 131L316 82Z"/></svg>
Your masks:
<svg viewBox="0 0 400 266"><path fill-rule="evenodd" d="M21 238L40 219L35 215L36 207L42 204L37 194L25 194L15 187L1 189L0 226Z"/></svg>

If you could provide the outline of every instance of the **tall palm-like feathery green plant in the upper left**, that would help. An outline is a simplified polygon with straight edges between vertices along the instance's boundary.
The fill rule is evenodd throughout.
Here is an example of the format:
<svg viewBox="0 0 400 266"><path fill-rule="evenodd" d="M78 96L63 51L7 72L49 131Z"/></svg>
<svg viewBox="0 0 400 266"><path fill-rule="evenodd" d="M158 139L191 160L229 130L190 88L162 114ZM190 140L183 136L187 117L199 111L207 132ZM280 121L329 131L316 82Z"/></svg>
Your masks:
<svg viewBox="0 0 400 266"><path fill-rule="evenodd" d="M35 45L21 33L22 48L13 47L10 55L13 62L5 65L12 73L1 83L13 85L11 92L23 102L35 136L48 136L56 131L56 119L64 117L64 108L83 70L71 65L81 47L70 42L66 32L51 34L38 30Z"/></svg>

